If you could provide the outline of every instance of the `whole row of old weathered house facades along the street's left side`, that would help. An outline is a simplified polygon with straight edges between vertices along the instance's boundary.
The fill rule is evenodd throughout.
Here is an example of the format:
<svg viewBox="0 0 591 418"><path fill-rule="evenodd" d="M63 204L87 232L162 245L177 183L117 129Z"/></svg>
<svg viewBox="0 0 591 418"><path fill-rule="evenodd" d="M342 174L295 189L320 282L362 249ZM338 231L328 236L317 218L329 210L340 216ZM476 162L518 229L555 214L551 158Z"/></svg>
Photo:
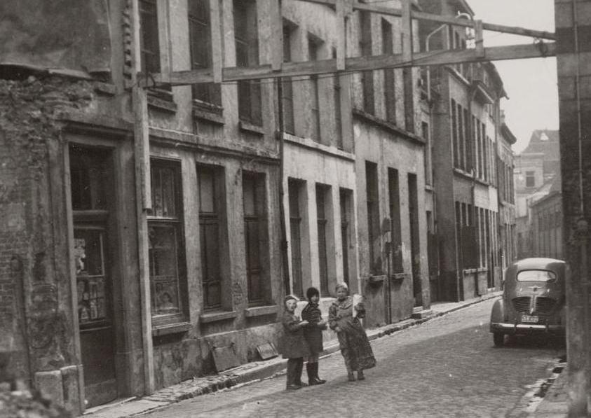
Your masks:
<svg viewBox="0 0 591 418"><path fill-rule="evenodd" d="M283 1L278 26L267 0L109 0L44 11L69 29L56 34L9 3L41 41L32 57L17 32L0 62L0 237L13 243L0 250L0 351L72 410L257 360L278 344L283 295L309 286L326 312L348 283L369 328L498 286L512 187L497 167L511 167L513 138L491 64L428 82L410 68L148 76L144 108L136 71L254 67L278 45L284 62L325 60L337 15ZM441 5L425 9L471 13ZM434 29L363 11L346 22L348 57L400 53L411 35L424 50ZM430 48L462 48L455 30Z"/></svg>

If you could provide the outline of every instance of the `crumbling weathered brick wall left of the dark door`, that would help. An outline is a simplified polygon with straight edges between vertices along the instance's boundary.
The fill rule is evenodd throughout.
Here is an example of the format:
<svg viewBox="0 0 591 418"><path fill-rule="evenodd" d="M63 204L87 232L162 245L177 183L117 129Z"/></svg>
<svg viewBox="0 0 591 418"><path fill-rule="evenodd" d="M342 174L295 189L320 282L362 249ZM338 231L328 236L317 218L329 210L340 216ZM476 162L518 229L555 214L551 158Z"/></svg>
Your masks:
<svg viewBox="0 0 591 418"><path fill-rule="evenodd" d="M92 92L62 78L0 81L0 352L8 377L64 403L77 401L79 360L62 184L50 162L63 159L60 112L86 107Z"/></svg>

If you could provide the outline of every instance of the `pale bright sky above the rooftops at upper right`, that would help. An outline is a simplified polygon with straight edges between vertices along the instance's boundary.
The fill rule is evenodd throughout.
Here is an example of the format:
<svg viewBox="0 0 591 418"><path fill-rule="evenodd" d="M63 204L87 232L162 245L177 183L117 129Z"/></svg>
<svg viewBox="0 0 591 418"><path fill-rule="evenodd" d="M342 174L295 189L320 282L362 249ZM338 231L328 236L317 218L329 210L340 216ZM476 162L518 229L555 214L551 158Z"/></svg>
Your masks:
<svg viewBox="0 0 591 418"><path fill-rule="evenodd" d="M467 0L475 19L498 25L554 32L554 0ZM532 38L484 32L484 46L516 45ZM531 132L558 129L556 59L496 61L509 99L501 101L505 123L517 137L513 150L527 146Z"/></svg>

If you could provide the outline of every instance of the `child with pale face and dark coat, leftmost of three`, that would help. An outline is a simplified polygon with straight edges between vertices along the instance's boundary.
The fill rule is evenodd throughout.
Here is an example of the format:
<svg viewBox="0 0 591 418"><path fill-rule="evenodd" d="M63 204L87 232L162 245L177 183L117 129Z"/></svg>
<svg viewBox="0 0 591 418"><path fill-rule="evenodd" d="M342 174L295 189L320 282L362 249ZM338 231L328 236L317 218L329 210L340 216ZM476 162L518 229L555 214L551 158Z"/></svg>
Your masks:
<svg viewBox="0 0 591 418"><path fill-rule="evenodd" d="M304 367L304 357L309 356L308 344L304 340L304 327L308 321L300 321L299 316L295 314L297 307L297 298L293 295L287 295L283 299L285 311L281 317L283 323L282 354L287 358L287 390L300 389L304 384L301 383L301 369Z"/></svg>

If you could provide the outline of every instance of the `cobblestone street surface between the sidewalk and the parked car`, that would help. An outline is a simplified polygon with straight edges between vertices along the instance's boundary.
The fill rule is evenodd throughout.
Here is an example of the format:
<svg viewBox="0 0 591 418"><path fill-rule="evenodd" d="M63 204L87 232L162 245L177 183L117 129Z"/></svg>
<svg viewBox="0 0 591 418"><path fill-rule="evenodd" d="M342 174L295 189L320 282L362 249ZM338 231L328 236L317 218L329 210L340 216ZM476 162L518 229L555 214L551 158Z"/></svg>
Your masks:
<svg viewBox="0 0 591 418"><path fill-rule="evenodd" d="M348 382L339 353L320 361L328 382L285 391L285 375L198 396L147 417L511 417L545 379L556 342L510 340L496 349L488 330L492 301L452 312L372 342L378 365ZM304 380L306 372L304 371Z"/></svg>

